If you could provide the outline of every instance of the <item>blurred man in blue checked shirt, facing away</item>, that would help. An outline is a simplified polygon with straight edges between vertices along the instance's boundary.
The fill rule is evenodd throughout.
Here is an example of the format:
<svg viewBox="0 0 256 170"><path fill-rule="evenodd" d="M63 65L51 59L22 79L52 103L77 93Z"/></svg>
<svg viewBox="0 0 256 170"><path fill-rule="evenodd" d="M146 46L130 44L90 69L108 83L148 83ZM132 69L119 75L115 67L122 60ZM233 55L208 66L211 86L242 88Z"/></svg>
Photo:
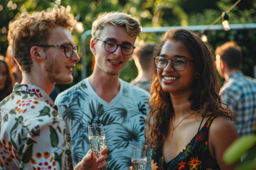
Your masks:
<svg viewBox="0 0 256 170"><path fill-rule="evenodd" d="M217 47L215 55L218 73L225 79L220 89L221 99L233 111L240 137L252 134L256 121L256 82L240 71L241 49L235 41L229 41Z"/></svg>

